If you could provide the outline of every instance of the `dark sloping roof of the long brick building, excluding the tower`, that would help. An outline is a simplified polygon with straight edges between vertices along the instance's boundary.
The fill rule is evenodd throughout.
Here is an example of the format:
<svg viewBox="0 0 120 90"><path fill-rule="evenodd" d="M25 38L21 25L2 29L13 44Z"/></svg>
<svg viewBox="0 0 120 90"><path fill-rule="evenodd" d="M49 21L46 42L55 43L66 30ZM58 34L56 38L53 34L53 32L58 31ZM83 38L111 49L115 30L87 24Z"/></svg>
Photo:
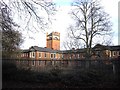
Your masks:
<svg viewBox="0 0 120 90"><path fill-rule="evenodd" d="M39 52L50 52L50 53L84 53L85 48L83 49L72 49L72 50L53 50L46 47L38 47L38 46L31 46L29 49L22 50L22 52L31 52L31 51L39 51ZM117 46L105 46L101 44L95 45L92 50L94 51L102 51L102 50L111 50L111 51L120 51L120 45Z"/></svg>

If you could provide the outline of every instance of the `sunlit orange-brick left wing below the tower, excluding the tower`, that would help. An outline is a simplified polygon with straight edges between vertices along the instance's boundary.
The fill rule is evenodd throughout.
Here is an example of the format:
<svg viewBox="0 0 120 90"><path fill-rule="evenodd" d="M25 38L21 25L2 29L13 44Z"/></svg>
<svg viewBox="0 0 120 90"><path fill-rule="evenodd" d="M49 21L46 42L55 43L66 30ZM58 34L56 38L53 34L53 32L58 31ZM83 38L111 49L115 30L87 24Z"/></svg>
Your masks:
<svg viewBox="0 0 120 90"><path fill-rule="evenodd" d="M21 57L24 59L32 60L58 60L61 58L59 50L53 50L50 48L43 48L38 46L31 46L27 50L23 50Z"/></svg>

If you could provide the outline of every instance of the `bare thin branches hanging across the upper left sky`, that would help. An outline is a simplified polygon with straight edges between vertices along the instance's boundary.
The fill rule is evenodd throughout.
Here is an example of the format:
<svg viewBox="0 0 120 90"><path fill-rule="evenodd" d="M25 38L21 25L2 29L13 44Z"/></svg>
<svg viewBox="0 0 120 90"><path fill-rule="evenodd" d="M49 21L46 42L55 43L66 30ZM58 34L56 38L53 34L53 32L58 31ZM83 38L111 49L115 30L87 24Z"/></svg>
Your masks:
<svg viewBox="0 0 120 90"><path fill-rule="evenodd" d="M9 8L10 17L16 19L20 28L27 32L45 30L56 11L52 0L1 0L0 2Z"/></svg>

